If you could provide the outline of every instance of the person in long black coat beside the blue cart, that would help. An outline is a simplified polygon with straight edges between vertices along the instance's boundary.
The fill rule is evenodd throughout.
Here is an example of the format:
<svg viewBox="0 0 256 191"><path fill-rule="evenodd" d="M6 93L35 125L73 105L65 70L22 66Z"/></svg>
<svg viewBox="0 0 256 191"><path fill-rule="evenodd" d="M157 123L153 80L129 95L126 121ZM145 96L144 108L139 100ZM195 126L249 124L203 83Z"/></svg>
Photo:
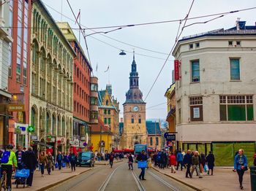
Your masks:
<svg viewBox="0 0 256 191"><path fill-rule="evenodd" d="M30 171L29 177L26 180L26 184L28 185L28 187L31 187L33 182L34 170L37 168L37 157L34 154L32 147L29 147L24 154L24 165Z"/></svg>

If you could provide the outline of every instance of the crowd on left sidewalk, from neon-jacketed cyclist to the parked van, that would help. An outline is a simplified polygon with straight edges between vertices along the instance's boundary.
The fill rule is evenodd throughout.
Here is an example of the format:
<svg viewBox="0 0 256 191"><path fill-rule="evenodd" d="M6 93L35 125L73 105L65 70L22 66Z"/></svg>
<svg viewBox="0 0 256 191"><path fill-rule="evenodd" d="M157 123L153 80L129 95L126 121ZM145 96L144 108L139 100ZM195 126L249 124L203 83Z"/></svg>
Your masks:
<svg viewBox="0 0 256 191"><path fill-rule="evenodd" d="M58 155L53 157L51 152L46 153L45 150L36 153L32 147L28 149L18 147L17 151L14 152L14 148L10 144L5 151L1 150L0 160L1 174L3 174L3 171L6 171L7 187L11 188L13 168L18 170L23 168L29 169L29 177L26 179L26 184L28 187L31 187L36 169L41 171L42 177L44 177L45 169L48 175L50 175L51 171L54 171L54 168L59 168L60 171L61 168L67 167L71 168L71 171L75 171L78 157L72 151L67 154L58 152Z"/></svg>

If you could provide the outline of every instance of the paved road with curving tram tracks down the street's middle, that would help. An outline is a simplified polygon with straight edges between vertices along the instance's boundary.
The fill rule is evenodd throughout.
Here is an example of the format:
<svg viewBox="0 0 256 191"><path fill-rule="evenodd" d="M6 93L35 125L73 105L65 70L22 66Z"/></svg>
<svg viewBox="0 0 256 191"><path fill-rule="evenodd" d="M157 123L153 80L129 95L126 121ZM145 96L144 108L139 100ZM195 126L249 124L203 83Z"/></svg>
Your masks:
<svg viewBox="0 0 256 191"><path fill-rule="evenodd" d="M138 168L135 168L134 171L129 171L127 163L116 163L113 168L110 168L109 165L100 165L50 190L192 190L153 169L146 170L146 181L140 181L138 179L139 174L140 169Z"/></svg>

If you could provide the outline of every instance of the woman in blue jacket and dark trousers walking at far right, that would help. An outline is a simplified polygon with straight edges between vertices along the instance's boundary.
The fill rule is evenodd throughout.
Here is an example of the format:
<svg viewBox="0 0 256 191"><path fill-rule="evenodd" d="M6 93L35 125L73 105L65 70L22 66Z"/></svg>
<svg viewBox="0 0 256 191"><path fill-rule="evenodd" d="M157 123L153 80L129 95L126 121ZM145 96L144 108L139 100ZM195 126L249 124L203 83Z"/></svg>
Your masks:
<svg viewBox="0 0 256 191"><path fill-rule="evenodd" d="M238 155L236 155L235 160L234 160L234 171L236 171L238 174L238 179L239 179L241 190L244 188L243 187L244 171L247 171L247 170L248 170L247 158L246 158L246 155L244 155L244 149L239 149Z"/></svg>

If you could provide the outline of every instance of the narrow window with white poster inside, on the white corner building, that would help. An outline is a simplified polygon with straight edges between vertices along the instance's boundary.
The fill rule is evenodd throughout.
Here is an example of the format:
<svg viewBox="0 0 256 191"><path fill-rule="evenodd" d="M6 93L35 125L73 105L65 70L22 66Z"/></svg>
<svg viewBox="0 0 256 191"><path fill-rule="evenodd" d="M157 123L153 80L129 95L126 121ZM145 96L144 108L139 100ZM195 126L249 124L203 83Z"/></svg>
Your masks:
<svg viewBox="0 0 256 191"><path fill-rule="evenodd" d="M190 97L190 120L203 121L203 97Z"/></svg>

